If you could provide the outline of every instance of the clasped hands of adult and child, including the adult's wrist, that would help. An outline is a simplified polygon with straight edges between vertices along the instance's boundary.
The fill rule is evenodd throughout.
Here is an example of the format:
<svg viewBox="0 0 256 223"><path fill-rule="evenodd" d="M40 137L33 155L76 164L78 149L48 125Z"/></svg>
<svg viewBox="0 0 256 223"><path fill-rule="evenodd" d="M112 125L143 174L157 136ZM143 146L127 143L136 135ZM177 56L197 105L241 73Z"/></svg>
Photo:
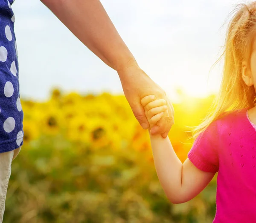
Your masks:
<svg viewBox="0 0 256 223"><path fill-rule="evenodd" d="M143 129L149 128L152 135L161 134L166 138L174 124L174 108L165 91L140 69L135 60L117 72L125 97L140 125Z"/></svg>

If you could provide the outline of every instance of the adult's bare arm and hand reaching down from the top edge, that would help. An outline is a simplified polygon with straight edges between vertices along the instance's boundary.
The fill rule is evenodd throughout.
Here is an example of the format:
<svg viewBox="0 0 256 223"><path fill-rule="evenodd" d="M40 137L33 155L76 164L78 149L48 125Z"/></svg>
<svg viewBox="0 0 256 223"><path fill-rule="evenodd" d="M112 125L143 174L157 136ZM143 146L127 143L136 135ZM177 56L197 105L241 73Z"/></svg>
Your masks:
<svg viewBox="0 0 256 223"><path fill-rule="evenodd" d="M148 94L168 100L165 92L140 69L131 51L118 34L99 0L41 0L68 29L108 66L119 74L125 97L140 125L148 121L140 99ZM169 114L168 114L169 113ZM172 124L173 107L156 126L166 137ZM156 132L156 133L157 133Z"/></svg>

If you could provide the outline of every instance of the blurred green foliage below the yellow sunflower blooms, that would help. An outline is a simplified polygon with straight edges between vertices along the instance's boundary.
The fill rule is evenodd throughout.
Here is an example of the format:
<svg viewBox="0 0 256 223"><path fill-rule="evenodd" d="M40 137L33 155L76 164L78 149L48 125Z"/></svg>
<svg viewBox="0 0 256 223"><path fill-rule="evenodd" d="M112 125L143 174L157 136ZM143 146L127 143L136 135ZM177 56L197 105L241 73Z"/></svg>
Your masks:
<svg viewBox="0 0 256 223"><path fill-rule="evenodd" d="M193 200L174 205L143 154L95 154L61 135L41 136L12 163L4 222L207 223L215 214L215 189L212 180Z"/></svg>

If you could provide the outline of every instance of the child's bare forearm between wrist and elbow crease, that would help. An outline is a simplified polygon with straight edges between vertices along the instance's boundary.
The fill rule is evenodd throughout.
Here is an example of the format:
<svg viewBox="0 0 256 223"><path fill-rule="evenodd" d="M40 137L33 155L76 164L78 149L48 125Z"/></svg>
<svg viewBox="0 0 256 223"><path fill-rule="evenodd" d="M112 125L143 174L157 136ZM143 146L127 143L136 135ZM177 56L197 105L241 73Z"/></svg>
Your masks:
<svg viewBox="0 0 256 223"><path fill-rule="evenodd" d="M181 192L182 163L172 148L169 137L150 135L157 176L163 190L172 203L178 203Z"/></svg>

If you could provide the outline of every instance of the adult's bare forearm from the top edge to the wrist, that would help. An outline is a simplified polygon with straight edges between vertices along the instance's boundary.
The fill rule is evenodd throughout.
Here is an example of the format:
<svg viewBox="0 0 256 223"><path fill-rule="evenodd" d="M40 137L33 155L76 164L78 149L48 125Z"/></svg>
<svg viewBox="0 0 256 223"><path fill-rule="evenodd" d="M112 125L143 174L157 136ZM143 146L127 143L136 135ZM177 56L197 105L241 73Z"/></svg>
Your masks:
<svg viewBox="0 0 256 223"><path fill-rule="evenodd" d="M119 70L129 63L136 63L99 0L41 2L111 68Z"/></svg>

